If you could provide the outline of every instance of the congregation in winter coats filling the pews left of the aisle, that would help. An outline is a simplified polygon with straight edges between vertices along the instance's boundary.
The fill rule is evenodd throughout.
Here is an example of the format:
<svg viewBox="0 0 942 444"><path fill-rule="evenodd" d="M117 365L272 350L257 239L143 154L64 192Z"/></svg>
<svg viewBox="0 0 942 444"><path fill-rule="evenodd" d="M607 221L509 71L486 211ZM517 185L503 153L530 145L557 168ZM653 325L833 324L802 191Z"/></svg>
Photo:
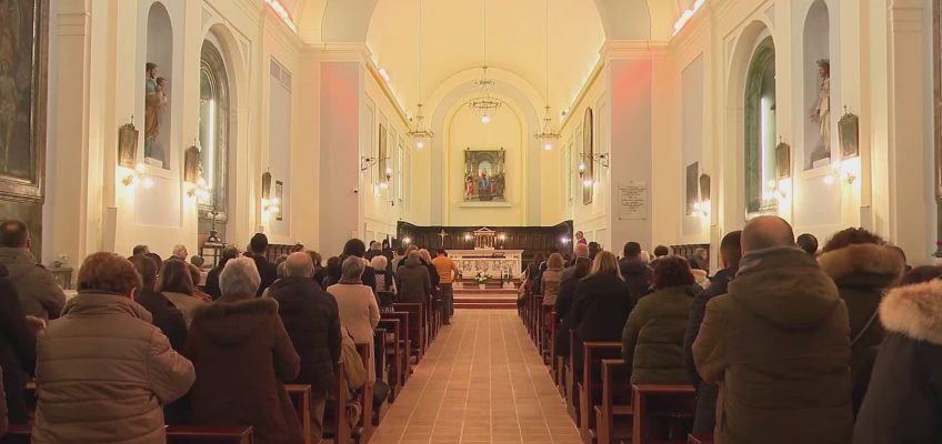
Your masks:
<svg viewBox="0 0 942 444"><path fill-rule="evenodd" d="M34 443L164 443L168 424L302 443L287 384L310 385L317 443L338 362L377 377L354 344L372 344L380 310L441 301L451 314L458 270L442 250L357 239L323 264L302 248L272 262L259 233L212 268L183 245L166 260L147 245L91 254L67 300L30 248L23 223L0 224L0 431L31 424Z"/></svg>

